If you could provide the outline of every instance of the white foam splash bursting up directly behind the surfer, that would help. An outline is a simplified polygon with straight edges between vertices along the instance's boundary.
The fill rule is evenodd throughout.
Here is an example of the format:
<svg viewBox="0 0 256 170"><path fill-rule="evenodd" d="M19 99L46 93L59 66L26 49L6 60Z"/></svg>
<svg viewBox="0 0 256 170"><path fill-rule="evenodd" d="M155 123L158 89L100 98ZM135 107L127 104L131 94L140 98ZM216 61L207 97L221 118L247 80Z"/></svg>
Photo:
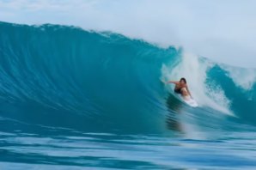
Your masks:
<svg viewBox="0 0 256 170"><path fill-rule="evenodd" d="M189 53L184 53L180 59L177 64L162 65L162 79L179 81L180 77L186 77L192 97L198 101L199 106L209 106L220 112L233 115L229 111L229 100L224 95L222 88L205 83L207 70L212 67L212 64L200 61L197 56ZM171 92L173 88L172 85L168 86L168 90Z"/></svg>

